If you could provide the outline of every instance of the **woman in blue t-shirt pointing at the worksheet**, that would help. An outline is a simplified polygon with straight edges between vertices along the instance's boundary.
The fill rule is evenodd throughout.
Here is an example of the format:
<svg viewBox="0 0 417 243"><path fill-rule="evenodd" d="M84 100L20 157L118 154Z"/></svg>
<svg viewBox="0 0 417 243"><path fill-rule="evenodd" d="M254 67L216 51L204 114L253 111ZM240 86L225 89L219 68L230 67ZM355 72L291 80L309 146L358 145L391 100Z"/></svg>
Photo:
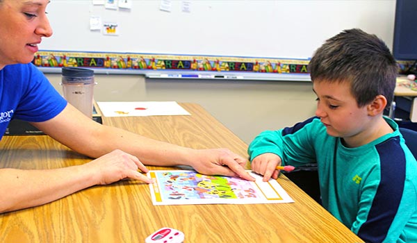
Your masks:
<svg viewBox="0 0 417 243"><path fill-rule="evenodd" d="M10 119L19 118L74 151L96 159L49 170L0 165L0 212L42 205L92 185L124 178L153 183L139 173L138 169L147 172L142 162L189 165L203 174L254 180L244 169L247 160L228 149L188 149L102 126L67 103L31 64L42 37L52 35L46 13L48 3L49 0L0 0L0 138Z"/></svg>

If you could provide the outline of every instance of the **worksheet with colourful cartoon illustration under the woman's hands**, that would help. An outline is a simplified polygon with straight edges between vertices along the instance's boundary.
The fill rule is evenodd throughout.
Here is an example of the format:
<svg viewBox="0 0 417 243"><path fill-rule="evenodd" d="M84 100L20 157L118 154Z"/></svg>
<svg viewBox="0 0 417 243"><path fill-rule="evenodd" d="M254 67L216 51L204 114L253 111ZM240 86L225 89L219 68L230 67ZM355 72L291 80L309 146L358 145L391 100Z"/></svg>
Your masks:
<svg viewBox="0 0 417 243"><path fill-rule="evenodd" d="M275 181L248 171L256 181L228 176L205 176L192 170L152 170L147 176L154 205L293 203Z"/></svg>

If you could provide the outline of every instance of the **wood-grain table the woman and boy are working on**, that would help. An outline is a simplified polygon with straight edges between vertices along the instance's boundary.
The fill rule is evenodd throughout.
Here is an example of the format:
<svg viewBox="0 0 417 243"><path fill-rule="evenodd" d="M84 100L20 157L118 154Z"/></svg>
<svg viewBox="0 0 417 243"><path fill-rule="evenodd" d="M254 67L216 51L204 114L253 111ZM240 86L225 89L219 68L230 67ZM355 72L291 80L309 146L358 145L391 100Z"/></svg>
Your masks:
<svg viewBox="0 0 417 243"><path fill-rule="evenodd" d="M104 124L196 149L227 147L247 156L247 144L201 106L181 106L192 115L104 117ZM3 137L0 149L0 167L51 169L90 160L45 135ZM153 206L144 183L94 186L0 215L0 242L145 242L162 227L183 231L185 242L362 242L288 178L278 181L295 203Z"/></svg>

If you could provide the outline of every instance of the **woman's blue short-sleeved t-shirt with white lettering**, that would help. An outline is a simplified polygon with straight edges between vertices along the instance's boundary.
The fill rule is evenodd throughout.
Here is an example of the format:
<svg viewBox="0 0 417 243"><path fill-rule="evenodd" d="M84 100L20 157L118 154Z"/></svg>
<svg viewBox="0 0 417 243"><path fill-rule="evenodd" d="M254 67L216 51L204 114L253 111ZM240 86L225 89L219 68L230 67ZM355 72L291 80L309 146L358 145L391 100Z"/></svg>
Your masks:
<svg viewBox="0 0 417 243"><path fill-rule="evenodd" d="M65 106L67 101L32 63L0 70L0 138L11 119L47 121Z"/></svg>

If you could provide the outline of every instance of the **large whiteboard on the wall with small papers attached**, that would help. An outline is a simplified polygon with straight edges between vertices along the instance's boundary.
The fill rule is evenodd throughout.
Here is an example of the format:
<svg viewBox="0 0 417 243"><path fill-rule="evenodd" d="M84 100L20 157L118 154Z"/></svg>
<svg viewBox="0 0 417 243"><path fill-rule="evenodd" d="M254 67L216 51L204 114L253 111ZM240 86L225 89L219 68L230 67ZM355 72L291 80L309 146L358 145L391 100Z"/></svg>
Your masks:
<svg viewBox="0 0 417 243"><path fill-rule="evenodd" d="M131 0L132 1L132 0ZM161 53L208 56L310 58L329 37L361 28L391 49L395 0L133 0L109 10L92 0L52 0L54 35L41 50ZM117 36L90 31L90 17L117 23Z"/></svg>

